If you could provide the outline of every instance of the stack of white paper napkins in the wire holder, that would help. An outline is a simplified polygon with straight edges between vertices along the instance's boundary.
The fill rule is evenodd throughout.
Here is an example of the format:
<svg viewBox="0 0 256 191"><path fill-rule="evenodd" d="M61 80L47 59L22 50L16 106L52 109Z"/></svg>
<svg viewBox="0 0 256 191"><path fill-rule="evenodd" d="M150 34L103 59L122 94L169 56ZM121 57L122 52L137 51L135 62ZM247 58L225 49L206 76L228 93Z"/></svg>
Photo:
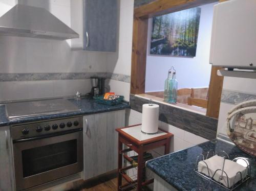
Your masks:
<svg viewBox="0 0 256 191"><path fill-rule="evenodd" d="M203 161L206 162L206 164L208 165L209 173L207 170L207 166ZM222 170L223 162L224 158L218 155L210 157L207 160L202 160L198 163L198 172L203 173L209 177L212 177L217 169ZM224 186L228 188L232 187L233 184L236 184L238 181L241 180L240 175L236 176L237 172L242 173L242 179L247 175L247 169L244 166L228 159L226 159L225 161L224 171L227 173L228 178L226 174L223 173L223 179L220 179L222 171L217 171L213 178L214 180L222 183ZM229 185L227 184L227 180Z"/></svg>

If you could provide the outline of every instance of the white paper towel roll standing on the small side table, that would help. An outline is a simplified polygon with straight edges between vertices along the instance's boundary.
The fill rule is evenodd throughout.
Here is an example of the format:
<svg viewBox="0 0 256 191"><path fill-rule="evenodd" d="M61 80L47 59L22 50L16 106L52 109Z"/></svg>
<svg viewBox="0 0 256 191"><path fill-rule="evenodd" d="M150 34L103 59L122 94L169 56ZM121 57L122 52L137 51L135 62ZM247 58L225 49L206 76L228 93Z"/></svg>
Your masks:
<svg viewBox="0 0 256 191"><path fill-rule="evenodd" d="M159 105L143 104L142 106L142 127L144 133L156 133L158 131Z"/></svg>

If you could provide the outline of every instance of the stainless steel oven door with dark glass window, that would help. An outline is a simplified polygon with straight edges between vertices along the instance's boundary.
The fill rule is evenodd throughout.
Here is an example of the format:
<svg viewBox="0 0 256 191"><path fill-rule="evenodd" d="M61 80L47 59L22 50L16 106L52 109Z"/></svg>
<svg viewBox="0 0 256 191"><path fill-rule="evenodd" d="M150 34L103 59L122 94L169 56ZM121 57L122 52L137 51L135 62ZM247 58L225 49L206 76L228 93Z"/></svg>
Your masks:
<svg viewBox="0 0 256 191"><path fill-rule="evenodd" d="M82 129L64 133L13 141L16 190L82 171Z"/></svg>

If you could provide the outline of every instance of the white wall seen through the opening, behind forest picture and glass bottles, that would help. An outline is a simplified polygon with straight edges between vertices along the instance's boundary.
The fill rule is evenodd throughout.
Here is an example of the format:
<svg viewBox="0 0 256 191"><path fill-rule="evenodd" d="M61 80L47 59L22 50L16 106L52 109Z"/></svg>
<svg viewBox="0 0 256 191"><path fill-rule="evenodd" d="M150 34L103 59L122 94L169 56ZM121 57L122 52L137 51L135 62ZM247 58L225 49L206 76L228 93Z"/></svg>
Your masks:
<svg viewBox="0 0 256 191"><path fill-rule="evenodd" d="M214 4L201 7L197 53L194 58L149 55L152 19L148 25L148 55L146 60L146 91L164 90L168 69L177 71L178 88L208 87L211 65L209 64L210 37Z"/></svg>

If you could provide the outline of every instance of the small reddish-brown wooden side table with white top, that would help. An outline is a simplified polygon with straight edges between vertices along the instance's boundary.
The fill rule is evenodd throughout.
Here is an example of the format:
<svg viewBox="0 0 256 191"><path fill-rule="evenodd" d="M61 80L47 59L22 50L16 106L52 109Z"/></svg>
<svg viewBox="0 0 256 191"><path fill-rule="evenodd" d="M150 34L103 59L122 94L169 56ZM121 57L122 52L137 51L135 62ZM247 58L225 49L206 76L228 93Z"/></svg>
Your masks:
<svg viewBox="0 0 256 191"><path fill-rule="evenodd" d="M154 182L154 179L143 181L143 168L145 167L143 153L164 146L164 154L168 154L170 137L173 134L159 129L157 134L147 135L141 132L141 124L118 128L116 131L118 132L118 191L132 189L134 185L137 186L137 190L142 190L142 186ZM123 149L123 144L128 148ZM134 165L122 166L122 157L132 162L132 159L126 155L130 151L138 153L137 180L131 179L125 173L125 171L134 168ZM122 185L122 178L127 181L126 184Z"/></svg>

